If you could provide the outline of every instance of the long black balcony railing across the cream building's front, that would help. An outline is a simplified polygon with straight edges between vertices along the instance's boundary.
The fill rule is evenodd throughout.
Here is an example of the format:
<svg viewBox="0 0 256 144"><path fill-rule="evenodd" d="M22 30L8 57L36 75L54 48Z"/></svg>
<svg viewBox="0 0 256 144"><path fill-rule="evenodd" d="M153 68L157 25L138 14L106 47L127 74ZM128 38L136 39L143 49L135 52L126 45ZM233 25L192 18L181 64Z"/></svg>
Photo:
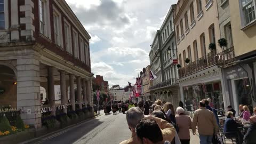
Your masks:
<svg viewBox="0 0 256 144"><path fill-rule="evenodd" d="M193 74L198 70L202 70L209 66L215 65L215 63L216 63L215 55L216 55L216 50L212 50L211 52L207 53L206 56L203 56L203 57L189 63L186 67L180 68L179 69L179 77Z"/></svg>

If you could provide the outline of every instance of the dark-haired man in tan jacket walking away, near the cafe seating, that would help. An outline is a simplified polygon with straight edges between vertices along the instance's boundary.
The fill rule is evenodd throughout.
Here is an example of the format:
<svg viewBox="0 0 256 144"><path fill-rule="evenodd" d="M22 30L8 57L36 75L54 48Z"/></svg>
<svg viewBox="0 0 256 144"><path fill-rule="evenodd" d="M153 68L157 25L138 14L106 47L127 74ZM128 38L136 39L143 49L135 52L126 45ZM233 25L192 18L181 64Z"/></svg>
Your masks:
<svg viewBox="0 0 256 144"><path fill-rule="evenodd" d="M198 128L200 144L211 144L214 134L219 131L213 112L205 108L205 102L199 102L199 109L195 111L192 121L193 134L196 134Z"/></svg>

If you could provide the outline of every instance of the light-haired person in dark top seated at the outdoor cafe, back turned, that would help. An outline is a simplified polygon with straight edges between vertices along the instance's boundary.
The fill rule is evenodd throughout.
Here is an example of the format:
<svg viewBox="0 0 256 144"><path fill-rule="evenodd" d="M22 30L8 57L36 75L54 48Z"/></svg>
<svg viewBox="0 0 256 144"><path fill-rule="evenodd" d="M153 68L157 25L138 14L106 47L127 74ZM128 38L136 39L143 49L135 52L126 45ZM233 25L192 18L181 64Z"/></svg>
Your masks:
<svg viewBox="0 0 256 144"><path fill-rule="evenodd" d="M228 138L236 138L236 143L243 143L243 133L240 131L238 127L243 127L242 124L238 124L234 120L234 115L232 111L228 111L227 114L227 119L225 120L224 124L224 134Z"/></svg>

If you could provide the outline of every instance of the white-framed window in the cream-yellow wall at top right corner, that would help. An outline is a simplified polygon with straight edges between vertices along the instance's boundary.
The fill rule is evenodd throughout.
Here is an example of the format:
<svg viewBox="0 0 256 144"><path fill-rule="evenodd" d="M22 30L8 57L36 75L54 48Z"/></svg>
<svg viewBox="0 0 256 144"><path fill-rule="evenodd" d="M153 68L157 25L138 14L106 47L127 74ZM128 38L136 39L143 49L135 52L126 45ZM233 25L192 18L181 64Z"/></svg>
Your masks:
<svg viewBox="0 0 256 144"><path fill-rule="evenodd" d="M242 2L244 24L247 25L251 21L255 20L255 1L242 0L241 2Z"/></svg>

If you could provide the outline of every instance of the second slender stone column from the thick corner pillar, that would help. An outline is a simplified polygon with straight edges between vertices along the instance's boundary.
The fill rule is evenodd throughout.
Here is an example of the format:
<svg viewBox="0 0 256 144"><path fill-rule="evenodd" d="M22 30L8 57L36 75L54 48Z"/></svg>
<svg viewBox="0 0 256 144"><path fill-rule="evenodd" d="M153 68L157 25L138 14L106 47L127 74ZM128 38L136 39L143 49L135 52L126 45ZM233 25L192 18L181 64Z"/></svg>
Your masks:
<svg viewBox="0 0 256 144"><path fill-rule="evenodd" d="M64 105L63 113L67 114L66 72L60 70L60 102Z"/></svg>

